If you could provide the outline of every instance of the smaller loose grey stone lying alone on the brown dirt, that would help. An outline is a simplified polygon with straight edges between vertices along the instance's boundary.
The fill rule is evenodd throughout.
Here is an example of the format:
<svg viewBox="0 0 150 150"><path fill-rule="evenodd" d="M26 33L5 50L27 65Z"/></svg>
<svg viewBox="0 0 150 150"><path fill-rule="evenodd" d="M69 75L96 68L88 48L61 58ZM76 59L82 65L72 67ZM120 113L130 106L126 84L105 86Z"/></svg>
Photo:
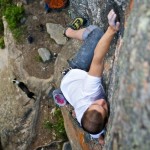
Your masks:
<svg viewBox="0 0 150 150"><path fill-rule="evenodd" d="M52 57L50 51L46 48L39 48L38 53L40 57L42 58L43 62L49 61Z"/></svg>

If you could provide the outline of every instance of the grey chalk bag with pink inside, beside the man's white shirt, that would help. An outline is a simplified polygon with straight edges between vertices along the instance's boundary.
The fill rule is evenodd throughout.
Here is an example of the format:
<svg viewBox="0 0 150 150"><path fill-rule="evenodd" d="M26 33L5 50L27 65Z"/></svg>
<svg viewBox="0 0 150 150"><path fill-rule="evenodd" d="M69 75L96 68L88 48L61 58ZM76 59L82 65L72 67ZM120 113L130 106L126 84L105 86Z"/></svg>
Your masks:
<svg viewBox="0 0 150 150"><path fill-rule="evenodd" d="M67 103L67 100L65 99L60 89L56 89L53 91L53 99L55 104L57 104L58 106L64 106Z"/></svg>

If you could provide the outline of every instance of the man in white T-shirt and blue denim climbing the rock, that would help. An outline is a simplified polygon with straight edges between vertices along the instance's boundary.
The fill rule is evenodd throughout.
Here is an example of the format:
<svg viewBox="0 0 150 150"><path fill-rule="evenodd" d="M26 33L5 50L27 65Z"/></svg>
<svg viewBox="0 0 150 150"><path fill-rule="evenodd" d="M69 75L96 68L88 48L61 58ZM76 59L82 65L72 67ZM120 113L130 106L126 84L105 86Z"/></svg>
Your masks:
<svg viewBox="0 0 150 150"><path fill-rule="evenodd" d="M68 38L83 40L84 43L69 61L70 68L63 72L65 76L60 88L74 107L79 124L93 138L99 138L104 133L109 116L101 78L104 57L120 26L116 17L114 10L111 10L108 14L109 27L105 33L94 25L79 29L84 24L81 18L77 18L65 31Z"/></svg>

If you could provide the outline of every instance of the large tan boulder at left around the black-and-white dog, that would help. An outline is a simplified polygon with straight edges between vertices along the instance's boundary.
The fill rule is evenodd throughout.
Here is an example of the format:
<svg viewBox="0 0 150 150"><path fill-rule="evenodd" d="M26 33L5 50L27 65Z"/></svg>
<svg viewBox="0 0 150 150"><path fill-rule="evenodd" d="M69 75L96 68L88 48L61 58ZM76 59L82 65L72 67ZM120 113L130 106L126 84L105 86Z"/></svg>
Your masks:
<svg viewBox="0 0 150 150"><path fill-rule="evenodd" d="M5 21L4 27L6 48L3 49L0 56L1 144L6 150L26 150L36 135L35 127L41 92L48 89L52 78L43 80L28 75L22 66L24 59L22 53L16 48L12 34ZM22 79L27 83L29 89L35 92L37 96L35 103L27 98L17 86L13 85L12 79L15 77ZM28 105L25 106L27 103Z"/></svg>

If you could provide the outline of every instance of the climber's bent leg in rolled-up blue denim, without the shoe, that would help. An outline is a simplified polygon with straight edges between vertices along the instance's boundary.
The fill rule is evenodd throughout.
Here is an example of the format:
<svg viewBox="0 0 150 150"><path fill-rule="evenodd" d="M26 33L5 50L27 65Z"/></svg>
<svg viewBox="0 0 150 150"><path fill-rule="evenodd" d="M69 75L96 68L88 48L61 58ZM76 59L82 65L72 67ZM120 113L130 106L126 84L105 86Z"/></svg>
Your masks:
<svg viewBox="0 0 150 150"><path fill-rule="evenodd" d="M78 31L68 29L66 34L69 37L84 40L83 45L74 58L72 60L68 60L69 66L71 68L88 71L94 55L94 49L100 38L103 36L103 31L97 26L90 25L87 28L83 28Z"/></svg>

